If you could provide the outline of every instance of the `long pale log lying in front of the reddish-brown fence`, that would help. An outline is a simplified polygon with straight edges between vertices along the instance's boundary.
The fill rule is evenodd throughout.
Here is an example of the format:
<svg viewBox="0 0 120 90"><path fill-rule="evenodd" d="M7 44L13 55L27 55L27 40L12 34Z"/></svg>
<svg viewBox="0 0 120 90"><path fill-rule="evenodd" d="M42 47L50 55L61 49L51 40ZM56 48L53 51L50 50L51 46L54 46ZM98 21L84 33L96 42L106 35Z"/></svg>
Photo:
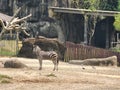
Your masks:
<svg viewBox="0 0 120 90"><path fill-rule="evenodd" d="M107 58L91 58L84 60L70 60L70 64L90 65L90 66L117 66L117 56Z"/></svg>

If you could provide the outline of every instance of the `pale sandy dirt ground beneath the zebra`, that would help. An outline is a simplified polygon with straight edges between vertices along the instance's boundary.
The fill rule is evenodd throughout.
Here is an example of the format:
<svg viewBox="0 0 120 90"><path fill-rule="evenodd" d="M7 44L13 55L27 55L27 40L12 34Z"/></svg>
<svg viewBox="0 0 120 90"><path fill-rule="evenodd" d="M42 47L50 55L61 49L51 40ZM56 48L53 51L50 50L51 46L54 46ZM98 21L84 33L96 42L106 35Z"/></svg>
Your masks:
<svg viewBox="0 0 120 90"><path fill-rule="evenodd" d="M12 57L16 58L16 57ZM8 58L0 58L5 61ZM1 83L0 90L120 90L120 67L92 67L59 63L59 70L52 71L53 63L43 61L38 70L37 59L17 58L28 68L0 68L1 75L11 77L10 83Z"/></svg>

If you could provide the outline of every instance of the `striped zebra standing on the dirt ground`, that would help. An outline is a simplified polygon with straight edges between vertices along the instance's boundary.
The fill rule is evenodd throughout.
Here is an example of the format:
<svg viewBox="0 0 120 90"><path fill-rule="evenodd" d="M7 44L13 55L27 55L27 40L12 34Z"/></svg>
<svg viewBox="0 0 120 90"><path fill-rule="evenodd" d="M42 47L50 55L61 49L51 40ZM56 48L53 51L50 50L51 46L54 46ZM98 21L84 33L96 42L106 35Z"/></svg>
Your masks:
<svg viewBox="0 0 120 90"><path fill-rule="evenodd" d="M33 53L37 56L37 59L39 60L39 70L42 70L42 60L43 59L51 59L54 68L53 71L58 70L58 54L55 51L43 51L38 45L33 45Z"/></svg>

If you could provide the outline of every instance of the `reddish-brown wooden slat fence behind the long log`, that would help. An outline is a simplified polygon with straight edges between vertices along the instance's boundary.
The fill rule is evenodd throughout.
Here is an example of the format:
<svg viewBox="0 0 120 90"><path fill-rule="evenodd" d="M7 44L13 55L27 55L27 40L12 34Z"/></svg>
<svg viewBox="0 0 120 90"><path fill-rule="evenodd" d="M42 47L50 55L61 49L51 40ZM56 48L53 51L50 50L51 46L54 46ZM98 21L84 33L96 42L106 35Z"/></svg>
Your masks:
<svg viewBox="0 0 120 90"><path fill-rule="evenodd" d="M74 44L72 42L66 42L66 53L64 61L69 60L83 60L88 58L106 58L116 55L120 62L120 53L107 49L96 48L87 45Z"/></svg>

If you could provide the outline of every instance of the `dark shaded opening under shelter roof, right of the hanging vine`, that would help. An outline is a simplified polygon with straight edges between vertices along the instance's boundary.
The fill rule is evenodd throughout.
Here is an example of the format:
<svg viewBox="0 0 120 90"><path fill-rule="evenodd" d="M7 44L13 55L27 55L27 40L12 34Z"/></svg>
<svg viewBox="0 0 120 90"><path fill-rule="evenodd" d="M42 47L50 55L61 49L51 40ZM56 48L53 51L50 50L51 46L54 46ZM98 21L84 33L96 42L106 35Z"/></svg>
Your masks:
<svg viewBox="0 0 120 90"><path fill-rule="evenodd" d="M115 40L114 17L107 17L96 24L94 33L94 46L110 48L111 42Z"/></svg>

